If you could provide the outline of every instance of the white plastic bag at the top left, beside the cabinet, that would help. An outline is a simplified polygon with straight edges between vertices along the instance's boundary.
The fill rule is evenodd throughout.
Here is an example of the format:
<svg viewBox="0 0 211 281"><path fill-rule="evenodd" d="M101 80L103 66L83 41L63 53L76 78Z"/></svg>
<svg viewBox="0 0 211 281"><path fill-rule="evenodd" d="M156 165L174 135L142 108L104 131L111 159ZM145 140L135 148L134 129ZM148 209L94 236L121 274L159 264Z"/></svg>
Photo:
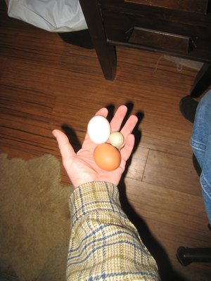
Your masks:
<svg viewBox="0 0 211 281"><path fill-rule="evenodd" d="M8 15L50 32L86 30L79 0L5 0Z"/></svg>

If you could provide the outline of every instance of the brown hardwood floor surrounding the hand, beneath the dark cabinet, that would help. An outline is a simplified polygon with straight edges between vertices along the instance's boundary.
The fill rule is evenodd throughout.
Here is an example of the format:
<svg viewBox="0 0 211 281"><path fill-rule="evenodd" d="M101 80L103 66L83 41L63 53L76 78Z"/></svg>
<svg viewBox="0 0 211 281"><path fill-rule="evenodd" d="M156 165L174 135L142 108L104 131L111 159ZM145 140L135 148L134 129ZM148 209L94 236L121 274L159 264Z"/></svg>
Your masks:
<svg viewBox="0 0 211 281"><path fill-rule="evenodd" d="M122 204L155 256L162 280L207 281L210 264L182 267L177 247L208 247L211 233L189 147L192 124L179 112L196 71L177 71L158 53L117 48L117 76L106 81L94 50L8 18L0 1L0 152L60 159L51 131L61 128L79 148L100 107L127 104L139 116ZM63 183L68 182L62 169ZM48 280L46 280L48 281Z"/></svg>

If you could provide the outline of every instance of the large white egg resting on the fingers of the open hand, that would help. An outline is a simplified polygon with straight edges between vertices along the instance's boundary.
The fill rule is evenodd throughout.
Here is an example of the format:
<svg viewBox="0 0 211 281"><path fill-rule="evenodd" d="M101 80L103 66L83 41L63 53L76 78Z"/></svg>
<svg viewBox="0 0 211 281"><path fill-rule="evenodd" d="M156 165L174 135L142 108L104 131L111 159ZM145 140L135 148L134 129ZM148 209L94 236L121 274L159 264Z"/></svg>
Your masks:
<svg viewBox="0 0 211 281"><path fill-rule="evenodd" d="M106 143L110 136L110 124L105 117L96 115L89 121L87 132L94 143Z"/></svg>

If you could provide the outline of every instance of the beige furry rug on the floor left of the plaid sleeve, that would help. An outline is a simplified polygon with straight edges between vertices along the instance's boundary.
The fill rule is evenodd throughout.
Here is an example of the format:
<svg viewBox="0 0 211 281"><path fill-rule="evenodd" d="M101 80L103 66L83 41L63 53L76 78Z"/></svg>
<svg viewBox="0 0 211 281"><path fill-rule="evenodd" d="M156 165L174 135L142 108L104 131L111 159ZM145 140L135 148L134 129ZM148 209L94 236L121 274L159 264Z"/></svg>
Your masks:
<svg viewBox="0 0 211 281"><path fill-rule="evenodd" d="M0 272L23 281L63 281L70 237L68 197L52 155L0 155Z"/></svg>

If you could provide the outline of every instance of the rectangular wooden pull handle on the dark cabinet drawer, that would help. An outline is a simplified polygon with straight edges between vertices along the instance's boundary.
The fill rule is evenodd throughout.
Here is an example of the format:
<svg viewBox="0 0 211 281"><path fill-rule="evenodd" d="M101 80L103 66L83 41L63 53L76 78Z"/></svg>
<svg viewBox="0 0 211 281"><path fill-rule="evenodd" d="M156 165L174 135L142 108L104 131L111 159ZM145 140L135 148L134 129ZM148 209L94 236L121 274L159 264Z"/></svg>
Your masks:
<svg viewBox="0 0 211 281"><path fill-rule="evenodd" d="M133 27L128 30L125 33L125 39L130 44L160 49L161 51L177 51L184 54L188 54L196 48L196 44L191 37L140 27Z"/></svg>

